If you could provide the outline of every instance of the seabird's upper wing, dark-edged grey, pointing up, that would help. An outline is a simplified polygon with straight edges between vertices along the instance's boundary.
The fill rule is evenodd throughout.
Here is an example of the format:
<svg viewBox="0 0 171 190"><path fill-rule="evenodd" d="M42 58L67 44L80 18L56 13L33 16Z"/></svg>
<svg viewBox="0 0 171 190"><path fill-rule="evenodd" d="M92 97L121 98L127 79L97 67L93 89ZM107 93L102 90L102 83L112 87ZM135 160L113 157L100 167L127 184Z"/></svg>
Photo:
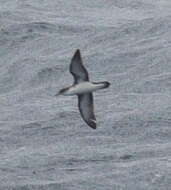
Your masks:
<svg viewBox="0 0 171 190"><path fill-rule="evenodd" d="M74 83L89 81L89 76L86 68L84 67L81 59L80 50L78 49L71 59L70 73L74 77Z"/></svg>

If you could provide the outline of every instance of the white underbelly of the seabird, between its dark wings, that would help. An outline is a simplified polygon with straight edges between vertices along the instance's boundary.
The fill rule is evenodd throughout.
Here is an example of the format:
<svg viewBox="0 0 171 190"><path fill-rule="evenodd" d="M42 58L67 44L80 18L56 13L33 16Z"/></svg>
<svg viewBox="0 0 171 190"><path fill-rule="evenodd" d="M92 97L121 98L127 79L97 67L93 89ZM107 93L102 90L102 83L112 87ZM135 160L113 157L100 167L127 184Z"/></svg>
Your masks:
<svg viewBox="0 0 171 190"><path fill-rule="evenodd" d="M95 90L98 90L102 87L102 84L93 84L90 82L82 82L75 86L72 86L66 95L75 95L75 94L83 94L88 92L93 92Z"/></svg>

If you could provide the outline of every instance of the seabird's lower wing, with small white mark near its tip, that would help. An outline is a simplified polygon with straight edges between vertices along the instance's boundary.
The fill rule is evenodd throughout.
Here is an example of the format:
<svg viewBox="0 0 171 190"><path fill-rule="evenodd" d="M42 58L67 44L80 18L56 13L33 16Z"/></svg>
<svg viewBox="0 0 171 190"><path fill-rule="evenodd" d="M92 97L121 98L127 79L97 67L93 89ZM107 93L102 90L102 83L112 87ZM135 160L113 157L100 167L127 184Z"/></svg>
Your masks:
<svg viewBox="0 0 171 190"><path fill-rule="evenodd" d="M96 118L94 115L93 94L85 93L78 95L78 107L84 121L93 129L96 129Z"/></svg>

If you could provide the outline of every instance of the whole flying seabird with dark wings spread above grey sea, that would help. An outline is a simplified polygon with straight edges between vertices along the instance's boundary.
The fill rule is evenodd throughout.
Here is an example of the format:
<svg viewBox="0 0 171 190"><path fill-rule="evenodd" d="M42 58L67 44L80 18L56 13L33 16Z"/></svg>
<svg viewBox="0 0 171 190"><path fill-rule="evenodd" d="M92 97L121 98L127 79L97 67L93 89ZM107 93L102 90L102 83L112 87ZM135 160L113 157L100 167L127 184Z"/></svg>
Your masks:
<svg viewBox="0 0 171 190"><path fill-rule="evenodd" d="M83 120L93 129L96 129L96 117L94 115L93 105L93 91L108 88L110 83L103 82L90 82L89 75L83 65L80 50L77 49L71 59L70 73L74 77L72 86L63 88L59 91L58 95L77 95L78 108Z"/></svg>

